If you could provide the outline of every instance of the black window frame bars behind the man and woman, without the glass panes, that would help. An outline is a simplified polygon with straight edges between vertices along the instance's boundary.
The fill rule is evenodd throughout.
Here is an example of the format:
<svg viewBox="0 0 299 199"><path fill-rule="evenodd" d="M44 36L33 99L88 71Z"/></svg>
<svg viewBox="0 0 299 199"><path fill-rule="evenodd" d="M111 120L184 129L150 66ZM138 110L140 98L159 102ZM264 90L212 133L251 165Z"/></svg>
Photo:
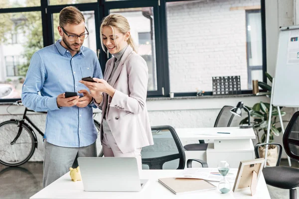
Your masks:
<svg viewBox="0 0 299 199"><path fill-rule="evenodd" d="M154 28L155 28L155 51L156 51L156 81L157 91L148 91L148 97L169 97L170 82L169 82L169 64L168 64L168 43L167 43L167 18L166 18L166 2L184 1L184 0L117 0L105 1L97 0L90 3L76 3L63 5L49 5L48 0L40 0L40 6L33 7L11 7L0 8L1 13L11 12L29 12L40 11L42 19L42 38L43 46L48 46L54 42L54 34L52 28L51 13L59 12L63 7L73 5L81 11L94 10L96 30L100 28L100 22L109 13L110 9L130 8L130 7L153 7L154 10ZM116 3L117 2L117 3ZM92 9L91 9L92 8ZM266 60L266 15L265 15L265 0L261 0L261 22L262 22L262 53L263 53L263 82L267 83L265 72L267 71ZM99 31L96 37L99 37ZM100 40L97 40L97 49L99 51L99 61L102 72L104 74L107 55L101 47ZM251 74L250 74L251 75ZM242 94L252 94L252 90L242 90ZM205 92L205 95L212 95L212 92ZM196 92L175 93L175 97L190 97L196 96ZM227 96L229 97L229 96ZM14 102L20 99L0 99L1 102Z"/></svg>

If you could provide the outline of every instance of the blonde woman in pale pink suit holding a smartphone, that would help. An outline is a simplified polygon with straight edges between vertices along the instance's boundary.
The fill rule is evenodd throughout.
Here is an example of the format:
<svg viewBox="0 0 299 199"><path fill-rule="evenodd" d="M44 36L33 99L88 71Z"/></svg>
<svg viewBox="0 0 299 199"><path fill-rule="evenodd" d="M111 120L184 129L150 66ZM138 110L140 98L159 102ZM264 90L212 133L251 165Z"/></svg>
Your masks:
<svg viewBox="0 0 299 199"><path fill-rule="evenodd" d="M153 144L146 107L148 67L136 53L128 20L110 14L102 21L101 44L114 57L106 63L104 79L80 81L102 109L101 139L105 157L136 157L142 169L141 149Z"/></svg>

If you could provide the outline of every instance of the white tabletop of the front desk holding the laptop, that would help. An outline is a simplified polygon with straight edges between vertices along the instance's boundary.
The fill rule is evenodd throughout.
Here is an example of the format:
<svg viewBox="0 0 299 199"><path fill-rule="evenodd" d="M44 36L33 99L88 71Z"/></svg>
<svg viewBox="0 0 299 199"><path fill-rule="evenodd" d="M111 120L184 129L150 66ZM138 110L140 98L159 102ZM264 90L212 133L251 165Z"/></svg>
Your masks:
<svg viewBox="0 0 299 199"><path fill-rule="evenodd" d="M204 170L204 169L203 169ZM237 169L231 169L237 172ZM30 199L270 199L264 176L261 175L257 186L257 193L251 196L249 188L233 193L221 194L218 189L212 191L175 195L163 185L158 183L158 178L174 177L182 170L142 170L141 179L149 179L149 182L141 192L85 192L82 181L76 183L70 180L69 173L41 190ZM100 180L100 179L99 179ZM217 182L212 182L216 186ZM231 184L231 189L233 184Z"/></svg>

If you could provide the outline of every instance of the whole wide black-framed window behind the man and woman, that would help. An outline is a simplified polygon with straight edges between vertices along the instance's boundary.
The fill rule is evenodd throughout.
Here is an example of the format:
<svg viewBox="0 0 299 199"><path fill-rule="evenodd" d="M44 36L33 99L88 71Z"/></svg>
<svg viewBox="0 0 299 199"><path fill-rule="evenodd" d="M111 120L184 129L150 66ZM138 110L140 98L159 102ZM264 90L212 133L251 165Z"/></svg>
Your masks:
<svg viewBox="0 0 299 199"><path fill-rule="evenodd" d="M90 33L84 46L96 52L103 72L109 57L101 47L101 20L109 13L128 19L138 54L148 65L148 97L195 96L197 90L212 95L217 76L240 76L242 93L251 93L252 80L265 79L261 2L0 0L0 86L21 91L32 54L60 39L59 12L75 5Z"/></svg>

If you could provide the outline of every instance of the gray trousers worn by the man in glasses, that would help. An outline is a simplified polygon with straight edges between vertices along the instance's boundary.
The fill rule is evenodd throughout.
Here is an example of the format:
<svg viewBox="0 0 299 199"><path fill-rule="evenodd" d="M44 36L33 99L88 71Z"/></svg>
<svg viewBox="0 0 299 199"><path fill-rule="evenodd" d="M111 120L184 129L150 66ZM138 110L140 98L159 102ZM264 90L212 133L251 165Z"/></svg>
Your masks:
<svg viewBox="0 0 299 199"><path fill-rule="evenodd" d="M70 167L78 167L78 157L97 157L96 142L86 147L61 147L44 139L43 188L66 174Z"/></svg>

